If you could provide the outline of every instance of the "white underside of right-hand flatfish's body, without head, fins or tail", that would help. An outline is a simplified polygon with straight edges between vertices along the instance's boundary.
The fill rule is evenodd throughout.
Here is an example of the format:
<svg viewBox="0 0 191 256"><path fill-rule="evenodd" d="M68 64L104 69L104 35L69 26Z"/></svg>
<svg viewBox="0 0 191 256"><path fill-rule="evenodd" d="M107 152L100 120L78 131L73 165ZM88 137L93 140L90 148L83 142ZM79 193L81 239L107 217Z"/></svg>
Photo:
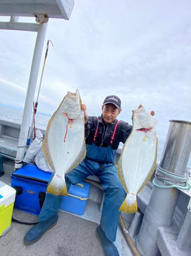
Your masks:
<svg viewBox="0 0 191 256"><path fill-rule="evenodd" d="M148 175L155 159L156 137L146 136L144 132L134 131L124 147L122 168L129 193L137 193Z"/></svg>

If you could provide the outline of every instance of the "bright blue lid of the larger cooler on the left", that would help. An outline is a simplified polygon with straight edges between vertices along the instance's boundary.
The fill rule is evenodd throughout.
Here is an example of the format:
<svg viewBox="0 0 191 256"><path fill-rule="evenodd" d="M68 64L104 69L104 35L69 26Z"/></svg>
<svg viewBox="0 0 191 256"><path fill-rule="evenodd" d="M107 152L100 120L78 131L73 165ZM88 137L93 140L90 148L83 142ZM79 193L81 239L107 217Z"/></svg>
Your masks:
<svg viewBox="0 0 191 256"><path fill-rule="evenodd" d="M43 184L48 184L52 173L40 170L37 165L26 164L17 171L11 174L11 178L20 180L37 181Z"/></svg>

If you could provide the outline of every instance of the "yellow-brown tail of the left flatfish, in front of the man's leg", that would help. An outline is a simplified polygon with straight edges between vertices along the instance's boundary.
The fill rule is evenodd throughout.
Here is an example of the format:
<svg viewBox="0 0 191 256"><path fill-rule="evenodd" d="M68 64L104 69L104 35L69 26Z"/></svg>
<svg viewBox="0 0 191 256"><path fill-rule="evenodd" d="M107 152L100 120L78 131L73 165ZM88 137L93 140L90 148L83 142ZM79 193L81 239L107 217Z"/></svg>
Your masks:
<svg viewBox="0 0 191 256"><path fill-rule="evenodd" d="M53 179L47 187L46 193L51 193L55 196L66 195L67 196L67 187L65 182L65 176L59 176L54 174Z"/></svg>

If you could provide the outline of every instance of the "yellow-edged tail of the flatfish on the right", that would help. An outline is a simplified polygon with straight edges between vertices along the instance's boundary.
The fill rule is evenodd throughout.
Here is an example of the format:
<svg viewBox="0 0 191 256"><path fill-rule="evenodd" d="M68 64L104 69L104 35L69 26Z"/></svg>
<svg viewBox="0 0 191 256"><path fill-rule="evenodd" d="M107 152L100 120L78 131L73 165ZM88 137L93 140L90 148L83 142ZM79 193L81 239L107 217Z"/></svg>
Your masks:
<svg viewBox="0 0 191 256"><path fill-rule="evenodd" d="M125 213L136 213L138 210L136 194L128 194L119 210Z"/></svg>

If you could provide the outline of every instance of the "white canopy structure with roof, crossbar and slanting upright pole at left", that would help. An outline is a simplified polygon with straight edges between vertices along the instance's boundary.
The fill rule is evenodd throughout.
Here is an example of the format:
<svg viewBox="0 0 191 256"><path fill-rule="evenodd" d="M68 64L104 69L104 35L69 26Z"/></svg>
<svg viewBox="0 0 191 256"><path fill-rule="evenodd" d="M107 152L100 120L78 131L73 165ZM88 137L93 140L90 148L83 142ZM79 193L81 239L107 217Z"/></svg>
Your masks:
<svg viewBox="0 0 191 256"><path fill-rule="evenodd" d="M0 29L37 32L37 40L34 48L30 78L28 81L28 89L25 99L18 150L15 158L15 169L22 167L22 160L25 155L25 146L28 138L28 129L30 126L31 110L37 85L37 78L48 19L59 18L69 20L73 6L74 0L0 0L0 16L11 16L11 20L9 22L0 22ZM20 23L18 22L18 17L20 16L36 17L36 22L38 24Z"/></svg>

